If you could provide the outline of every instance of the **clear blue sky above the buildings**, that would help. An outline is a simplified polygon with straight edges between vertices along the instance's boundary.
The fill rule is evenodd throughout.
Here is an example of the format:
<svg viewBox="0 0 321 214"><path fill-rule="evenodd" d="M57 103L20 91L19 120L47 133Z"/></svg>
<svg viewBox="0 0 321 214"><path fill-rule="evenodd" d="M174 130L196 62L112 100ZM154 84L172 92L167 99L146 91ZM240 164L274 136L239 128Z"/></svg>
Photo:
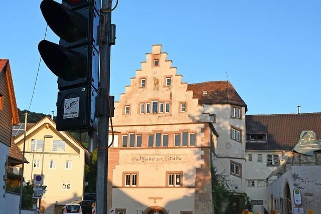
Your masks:
<svg viewBox="0 0 321 214"><path fill-rule="evenodd" d="M10 59L18 107L28 108L46 23L41 1L4 1L0 58ZM320 112L321 1L119 0L112 14L111 94L119 98L152 44L184 82L228 79L247 114ZM59 38L48 29L47 40ZM31 111L56 111L57 78L41 64Z"/></svg>

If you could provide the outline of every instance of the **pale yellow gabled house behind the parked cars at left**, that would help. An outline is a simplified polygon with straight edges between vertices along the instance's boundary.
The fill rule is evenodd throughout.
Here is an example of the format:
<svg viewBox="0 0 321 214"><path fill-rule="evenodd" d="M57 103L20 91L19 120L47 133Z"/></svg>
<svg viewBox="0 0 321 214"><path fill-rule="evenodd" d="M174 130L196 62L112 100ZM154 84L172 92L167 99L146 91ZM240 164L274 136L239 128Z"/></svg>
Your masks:
<svg viewBox="0 0 321 214"><path fill-rule="evenodd" d="M14 142L22 151L24 133ZM42 198L45 213L54 213L55 204L82 199L85 160L90 159L90 153L67 132L57 131L49 117L27 126L25 157L31 163L25 164L26 181L32 180L34 174L41 174L43 169L44 185L47 185Z"/></svg>

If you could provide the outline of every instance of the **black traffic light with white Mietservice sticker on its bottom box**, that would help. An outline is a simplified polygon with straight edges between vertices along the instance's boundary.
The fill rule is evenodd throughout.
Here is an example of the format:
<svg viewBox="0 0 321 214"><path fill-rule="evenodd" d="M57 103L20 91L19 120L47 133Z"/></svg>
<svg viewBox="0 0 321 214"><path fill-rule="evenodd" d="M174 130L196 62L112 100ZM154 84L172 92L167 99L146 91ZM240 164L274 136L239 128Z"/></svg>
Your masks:
<svg viewBox="0 0 321 214"><path fill-rule="evenodd" d="M43 0L41 12L59 45L38 45L47 67L58 77L57 130L94 131L99 79L99 0Z"/></svg>

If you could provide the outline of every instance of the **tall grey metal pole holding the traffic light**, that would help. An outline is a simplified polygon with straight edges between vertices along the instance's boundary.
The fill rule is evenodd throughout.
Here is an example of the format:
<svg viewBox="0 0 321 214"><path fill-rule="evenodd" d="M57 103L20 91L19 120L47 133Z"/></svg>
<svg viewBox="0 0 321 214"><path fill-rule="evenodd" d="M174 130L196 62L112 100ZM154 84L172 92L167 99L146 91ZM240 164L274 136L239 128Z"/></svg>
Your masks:
<svg viewBox="0 0 321 214"><path fill-rule="evenodd" d="M109 6L111 0L102 0L101 2L101 8L102 9L107 9ZM103 14L105 16L105 29L106 32L108 31L108 27L111 24L111 12L107 14ZM102 22L101 22L102 23ZM101 26L102 28L102 26ZM107 33L103 35L103 41L105 43L102 44L102 47L100 48L100 53L101 53L101 60L104 64L104 69L102 70L102 67L100 67L100 73L99 73L99 96L103 96L104 99L108 99L106 96L106 87L108 87L109 91L109 83L110 83L110 44L108 44L108 38L107 38ZM106 75L107 79L107 85L105 84L104 81L104 73ZM107 112L108 110L108 105L107 108L103 110L103 114L98 116L98 142L97 145L98 147L108 147L108 116ZM97 151L97 183L96 183L96 213L97 214L106 214L107 213L107 169L108 169L108 149L98 149Z"/></svg>

